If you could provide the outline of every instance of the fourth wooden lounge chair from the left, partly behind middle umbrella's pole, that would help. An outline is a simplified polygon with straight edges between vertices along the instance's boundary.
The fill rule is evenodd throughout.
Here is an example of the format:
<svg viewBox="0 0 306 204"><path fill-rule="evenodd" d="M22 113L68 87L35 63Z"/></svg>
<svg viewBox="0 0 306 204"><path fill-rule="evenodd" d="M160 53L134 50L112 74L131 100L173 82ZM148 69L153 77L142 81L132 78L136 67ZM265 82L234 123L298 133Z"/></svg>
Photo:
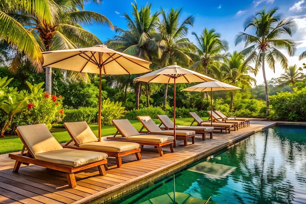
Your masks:
<svg viewBox="0 0 306 204"><path fill-rule="evenodd" d="M174 136L174 130L162 130L158 125L152 120L150 116L137 116L138 120L142 123L143 127L140 129L142 131L144 128L148 131L148 134L158 134L158 135L168 135ZM187 145L187 139L191 137L192 143L195 143L196 132L191 130L175 130L175 135L177 140L184 140L184 146ZM176 146L176 142L174 143Z"/></svg>

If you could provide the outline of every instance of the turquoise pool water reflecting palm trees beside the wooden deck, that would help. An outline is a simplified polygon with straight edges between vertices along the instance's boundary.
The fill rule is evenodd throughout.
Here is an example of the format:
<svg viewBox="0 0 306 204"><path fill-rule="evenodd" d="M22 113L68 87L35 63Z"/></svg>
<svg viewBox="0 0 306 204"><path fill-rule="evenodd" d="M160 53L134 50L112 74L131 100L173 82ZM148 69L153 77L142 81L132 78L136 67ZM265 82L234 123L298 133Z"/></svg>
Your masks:
<svg viewBox="0 0 306 204"><path fill-rule="evenodd" d="M115 204L173 191L169 177ZM306 127L275 126L203 159L175 173L175 192L219 204L306 204Z"/></svg>

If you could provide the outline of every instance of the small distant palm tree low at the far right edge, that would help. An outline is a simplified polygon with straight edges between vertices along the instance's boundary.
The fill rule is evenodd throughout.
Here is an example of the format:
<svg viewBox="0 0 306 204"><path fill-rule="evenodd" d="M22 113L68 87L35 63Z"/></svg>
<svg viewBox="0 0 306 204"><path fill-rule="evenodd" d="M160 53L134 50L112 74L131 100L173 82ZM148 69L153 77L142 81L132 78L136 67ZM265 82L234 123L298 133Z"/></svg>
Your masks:
<svg viewBox="0 0 306 204"><path fill-rule="evenodd" d="M292 87L295 87L296 82L302 82L305 78L303 72L299 72L300 69L297 68L296 65L289 66L285 68L284 74L282 74L278 79L280 80L279 87L283 88L284 86L288 86L292 84Z"/></svg>

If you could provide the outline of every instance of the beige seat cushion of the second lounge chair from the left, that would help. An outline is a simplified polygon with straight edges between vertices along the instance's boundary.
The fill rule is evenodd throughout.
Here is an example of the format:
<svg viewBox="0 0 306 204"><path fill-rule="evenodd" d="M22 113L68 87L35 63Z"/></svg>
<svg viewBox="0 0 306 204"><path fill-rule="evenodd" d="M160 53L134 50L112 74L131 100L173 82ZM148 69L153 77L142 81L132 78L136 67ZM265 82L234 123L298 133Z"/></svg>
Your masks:
<svg viewBox="0 0 306 204"><path fill-rule="evenodd" d="M88 142L80 144L80 147L92 150L100 150L107 152L126 152L139 148L139 144L135 142L120 142L120 141L101 141L101 142Z"/></svg>

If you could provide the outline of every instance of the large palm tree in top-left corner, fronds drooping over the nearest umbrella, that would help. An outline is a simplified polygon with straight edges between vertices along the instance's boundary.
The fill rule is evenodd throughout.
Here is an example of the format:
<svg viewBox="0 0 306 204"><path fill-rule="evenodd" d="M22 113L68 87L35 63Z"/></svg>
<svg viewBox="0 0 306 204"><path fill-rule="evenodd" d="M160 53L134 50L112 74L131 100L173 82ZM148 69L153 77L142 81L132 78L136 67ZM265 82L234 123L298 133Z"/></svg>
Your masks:
<svg viewBox="0 0 306 204"><path fill-rule="evenodd" d="M25 53L36 64L37 69L42 70L41 51L92 46L101 43L95 35L84 30L81 24L107 24L113 28L105 16L85 11L85 1L1 1L0 38L8 41L12 46L16 46L18 50L22 51L20 54ZM46 91L51 93L52 69L46 67L45 74Z"/></svg>

